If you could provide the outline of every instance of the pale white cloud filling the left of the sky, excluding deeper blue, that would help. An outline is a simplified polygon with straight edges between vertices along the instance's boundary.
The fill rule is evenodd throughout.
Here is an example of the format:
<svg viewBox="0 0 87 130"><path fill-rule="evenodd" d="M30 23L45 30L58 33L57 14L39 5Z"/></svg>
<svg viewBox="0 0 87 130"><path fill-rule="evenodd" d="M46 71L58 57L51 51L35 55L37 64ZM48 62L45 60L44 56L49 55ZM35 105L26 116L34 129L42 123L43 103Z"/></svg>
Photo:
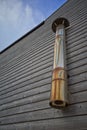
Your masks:
<svg viewBox="0 0 87 130"><path fill-rule="evenodd" d="M22 0L0 0L0 50L44 19L43 14Z"/></svg>

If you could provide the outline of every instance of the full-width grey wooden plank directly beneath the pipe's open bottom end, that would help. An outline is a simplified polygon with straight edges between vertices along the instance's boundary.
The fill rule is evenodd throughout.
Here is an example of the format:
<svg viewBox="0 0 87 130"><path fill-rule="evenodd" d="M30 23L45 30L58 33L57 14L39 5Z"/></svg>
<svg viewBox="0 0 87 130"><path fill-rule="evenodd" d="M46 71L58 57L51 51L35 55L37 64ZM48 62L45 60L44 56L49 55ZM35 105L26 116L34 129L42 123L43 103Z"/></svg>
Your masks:
<svg viewBox="0 0 87 130"><path fill-rule="evenodd" d="M11 124L11 123L20 123L20 122L28 122L28 121L37 121L37 120L46 120L46 119L55 119L60 117L70 117L70 116L81 116L87 115L87 103L76 104L72 107L68 107L64 110L57 109L45 109L33 112L27 112L12 116L6 116L0 118L0 124Z"/></svg>

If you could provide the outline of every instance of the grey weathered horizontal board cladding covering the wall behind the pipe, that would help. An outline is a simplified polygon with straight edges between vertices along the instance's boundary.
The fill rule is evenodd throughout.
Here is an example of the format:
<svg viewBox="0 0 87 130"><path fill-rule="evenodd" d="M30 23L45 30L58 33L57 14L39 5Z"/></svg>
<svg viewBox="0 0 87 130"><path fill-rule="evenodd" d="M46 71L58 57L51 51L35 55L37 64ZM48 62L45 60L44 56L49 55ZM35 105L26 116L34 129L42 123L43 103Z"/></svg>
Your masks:
<svg viewBox="0 0 87 130"><path fill-rule="evenodd" d="M49 106L55 34L52 22L69 20L66 61L69 107ZM70 0L43 25L0 55L0 130L87 129L87 0Z"/></svg>

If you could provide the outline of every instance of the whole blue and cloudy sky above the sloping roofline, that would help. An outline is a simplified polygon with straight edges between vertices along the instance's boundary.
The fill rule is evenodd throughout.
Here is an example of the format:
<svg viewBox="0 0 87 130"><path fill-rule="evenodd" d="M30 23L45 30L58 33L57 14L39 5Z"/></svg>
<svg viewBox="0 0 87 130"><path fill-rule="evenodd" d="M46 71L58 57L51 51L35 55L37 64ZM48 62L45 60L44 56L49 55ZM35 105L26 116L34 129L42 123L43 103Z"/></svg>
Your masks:
<svg viewBox="0 0 87 130"><path fill-rule="evenodd" d="M0 0L0 51L29 32L67 0Z"/></svg>

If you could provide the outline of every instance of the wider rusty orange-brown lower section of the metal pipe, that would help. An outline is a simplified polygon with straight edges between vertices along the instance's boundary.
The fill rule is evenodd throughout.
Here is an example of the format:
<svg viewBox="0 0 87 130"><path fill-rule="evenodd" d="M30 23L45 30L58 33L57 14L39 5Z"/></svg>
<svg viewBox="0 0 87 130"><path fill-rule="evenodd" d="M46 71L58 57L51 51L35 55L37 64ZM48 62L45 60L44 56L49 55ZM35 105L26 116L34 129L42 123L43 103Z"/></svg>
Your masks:
<svg viewBox="0 0 87 130"><path fill-rule="evenodd" d="M62 108L68 105L66 98L66 72L64 68L58 67L53 70L52 89L50 105L56 108Z"/></svg>

